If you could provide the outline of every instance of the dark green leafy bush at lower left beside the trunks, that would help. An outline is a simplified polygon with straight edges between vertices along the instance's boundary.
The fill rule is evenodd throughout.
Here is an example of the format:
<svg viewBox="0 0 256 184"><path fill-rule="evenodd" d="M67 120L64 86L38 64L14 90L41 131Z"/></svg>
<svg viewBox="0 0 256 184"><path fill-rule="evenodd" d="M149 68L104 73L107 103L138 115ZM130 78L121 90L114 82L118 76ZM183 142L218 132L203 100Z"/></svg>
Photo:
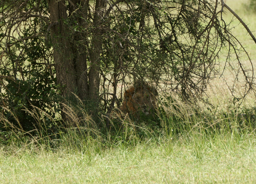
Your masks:
<svg viewBox="0 0 256 184"><path fill-rule="evenodd" d="M5 75L9 74L6 73ZM29 75L24 75L27 78L24 81L21 79L14 81L6 78L6 89L8 90L1 93L2 106L0 109L12 125L8 125L4 120L4 122L1 122L1 127L7 126L6 128L10 128L14 126L24 131L31 131L38 128L38 126L42 126L36 124L35 117L31 113L35 113L34 116L38 116L36 118L39 119L47 118L40 110L47 112L53 118L54 113L58 113L59 104L56 102L57 86L55 85L55 79L51 79L47 71L30 70ZM47 110L49 107L55 110ZM53 124L49 118L45 123L46 129L51 128Z"/></svg>

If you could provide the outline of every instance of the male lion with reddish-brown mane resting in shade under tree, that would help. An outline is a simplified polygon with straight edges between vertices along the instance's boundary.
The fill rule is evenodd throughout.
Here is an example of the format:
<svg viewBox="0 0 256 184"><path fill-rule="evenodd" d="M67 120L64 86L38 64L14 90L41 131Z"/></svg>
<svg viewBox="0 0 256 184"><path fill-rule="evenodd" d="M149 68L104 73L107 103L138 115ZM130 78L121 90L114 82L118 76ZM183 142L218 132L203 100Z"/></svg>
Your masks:
<svg viewBox="0 0 256 184"><path fill-rule="evenodd" d="M138 117L140 112L149 115L156 107L156 95L156 89L148 85L131 86L124 92L121 110L124 113L131 113L135 117Z"/></svg>

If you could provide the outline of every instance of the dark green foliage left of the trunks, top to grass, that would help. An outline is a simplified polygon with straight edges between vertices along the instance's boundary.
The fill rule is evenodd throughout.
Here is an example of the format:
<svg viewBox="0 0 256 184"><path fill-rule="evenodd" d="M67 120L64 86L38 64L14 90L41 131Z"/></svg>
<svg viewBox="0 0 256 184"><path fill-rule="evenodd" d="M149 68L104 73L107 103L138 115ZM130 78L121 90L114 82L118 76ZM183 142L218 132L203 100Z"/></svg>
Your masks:
<svg viewBox="0 0 256 184"><path fill-rule="evenodd" d="M47 136L56 131L56 115L60 111L51 43L43 36L48 27L44 21L47 17L37 16L47 14L48 8L46 1L19 3L6 1L3 4L1 16L6 16L5 21L14 21L23 15L23 12L13 12L15 8L32 11L34 16L21 20L18 25L1 22L5 36L12 29L19 30L19 35L1 40L0 130L21 130L42 137L40 134Z"/></svg>

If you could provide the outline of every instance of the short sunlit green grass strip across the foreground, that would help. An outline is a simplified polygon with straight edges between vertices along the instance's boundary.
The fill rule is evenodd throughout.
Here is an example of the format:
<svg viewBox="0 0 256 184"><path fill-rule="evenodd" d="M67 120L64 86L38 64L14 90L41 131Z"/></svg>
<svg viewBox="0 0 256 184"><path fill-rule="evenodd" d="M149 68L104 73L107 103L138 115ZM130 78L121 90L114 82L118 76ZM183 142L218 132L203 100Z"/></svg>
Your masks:
<svg viewBox="0 0 256 184"><path fill-rule="evenodd" d="M1 183L254 183L255 135L192 133L100 152L0 151Z"/></svg>

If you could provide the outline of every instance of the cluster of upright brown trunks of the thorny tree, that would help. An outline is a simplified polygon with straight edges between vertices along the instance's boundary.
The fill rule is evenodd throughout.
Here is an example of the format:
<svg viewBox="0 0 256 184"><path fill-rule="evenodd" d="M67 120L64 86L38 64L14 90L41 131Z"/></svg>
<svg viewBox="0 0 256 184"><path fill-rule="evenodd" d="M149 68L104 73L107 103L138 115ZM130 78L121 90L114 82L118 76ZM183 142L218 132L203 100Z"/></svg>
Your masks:
<svg viewBox="0 0 256 184"><path fill-rule="evenodd" d="M77 5L82 5L81 11L77 12ZM86 28L88 18L89 0L70 0L69 10L72 15L81 13L78 16L68 18L67 7L64 0L48 0L51 14L50 33L54 50L54 61L57 83L61 85L64 98L72 93L78 95L81 100L87 100L92 107L94 117L97 116L99 105L100 87L100 60L102 50L102 17L104 15L105 0L95 2L93 17L93 36L88 40L87 32L68 29L70 25L66 20ZM88 44L88 42L91 44ZM80 43L82 42L82 43ZM90 45L90 51L87 49ZM87 64L89 58L89 63Z"/></svg>

